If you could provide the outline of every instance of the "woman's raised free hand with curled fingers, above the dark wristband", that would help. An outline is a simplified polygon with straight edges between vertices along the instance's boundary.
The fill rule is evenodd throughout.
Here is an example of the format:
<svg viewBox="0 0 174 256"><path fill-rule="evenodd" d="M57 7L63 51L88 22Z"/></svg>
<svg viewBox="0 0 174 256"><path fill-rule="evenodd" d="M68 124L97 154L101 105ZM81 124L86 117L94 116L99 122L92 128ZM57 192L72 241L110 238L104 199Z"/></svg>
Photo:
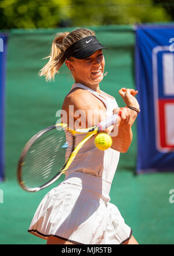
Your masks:
<svg viewBox="0 0 174 256"><path fill-rule="evenodd" d="M140 109L139 102L135 98L138 91L135 91L134 89L121 88L118 92L124 100L126 106L133 106L134 108Z"/></svg>

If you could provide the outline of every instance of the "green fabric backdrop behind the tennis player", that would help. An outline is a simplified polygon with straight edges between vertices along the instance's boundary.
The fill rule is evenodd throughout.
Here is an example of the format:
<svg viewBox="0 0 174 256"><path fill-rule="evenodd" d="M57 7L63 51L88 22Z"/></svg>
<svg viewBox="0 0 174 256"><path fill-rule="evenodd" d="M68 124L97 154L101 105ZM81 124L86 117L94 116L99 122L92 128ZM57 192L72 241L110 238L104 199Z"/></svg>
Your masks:
<svg viewBox="0 0 174 256"><path fill-rule="evenodd" d="M63 65L55 82L46 83L38 72L47 60L57 32L66 29L11 30L9 32L6 81L6 180L0 183L0 244L45 244L27 232L42 197L57 183L38 193L27 193L17 184L16 166L27 140L46 126L56 123L65 95L74 83ZM107 76L100 87L125 106L118 94L121 87L135 88L135 33L131 26L90 27L108 51L104 51ZM142 106L141 106L142 108ZM136 175L136 123L129 151L121 154L111 187L111 202L119 208L140 244L173 244L173 173Z"/></svg>

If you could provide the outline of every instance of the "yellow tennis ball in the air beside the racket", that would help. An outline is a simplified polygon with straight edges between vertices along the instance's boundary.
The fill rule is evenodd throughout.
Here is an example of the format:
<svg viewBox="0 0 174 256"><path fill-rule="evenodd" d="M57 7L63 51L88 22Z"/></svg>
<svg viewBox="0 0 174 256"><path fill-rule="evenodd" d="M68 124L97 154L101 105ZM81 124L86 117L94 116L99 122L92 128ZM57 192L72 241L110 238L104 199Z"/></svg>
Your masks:
<svg viewBox="0 0 174 256"><path fill-rule="evenodd" d="M95 138L95 145L99 150L107 150L112 144L113 140L107 133L99 133Z"/></svg>

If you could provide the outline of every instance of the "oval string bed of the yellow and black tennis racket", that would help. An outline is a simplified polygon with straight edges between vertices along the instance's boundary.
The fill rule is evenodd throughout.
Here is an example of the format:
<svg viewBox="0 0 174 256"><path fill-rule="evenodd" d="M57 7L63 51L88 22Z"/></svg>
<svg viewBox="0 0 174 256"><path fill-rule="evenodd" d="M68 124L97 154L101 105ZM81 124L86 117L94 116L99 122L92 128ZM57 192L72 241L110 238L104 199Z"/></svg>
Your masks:
<svg viewBox="0 0 174 256"><path fill-rule="evenodd" d="M45 135L45 136L44 136ZM70 131L50 130L33 145L24 159L23 180L27 187L39 187L63 168L73 150L74 137Z"/></svg>

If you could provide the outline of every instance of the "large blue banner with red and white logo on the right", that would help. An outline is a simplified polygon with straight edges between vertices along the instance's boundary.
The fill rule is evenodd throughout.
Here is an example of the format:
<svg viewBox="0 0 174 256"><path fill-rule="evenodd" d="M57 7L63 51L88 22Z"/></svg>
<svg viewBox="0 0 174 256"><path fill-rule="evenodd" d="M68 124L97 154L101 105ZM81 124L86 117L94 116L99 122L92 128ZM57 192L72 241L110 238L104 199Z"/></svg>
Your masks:
<svg viewBox="0 0 174 256"><path fill-rule="evenodd" d="M137 173L174 171L174 25L136 27Z"/></svg>

